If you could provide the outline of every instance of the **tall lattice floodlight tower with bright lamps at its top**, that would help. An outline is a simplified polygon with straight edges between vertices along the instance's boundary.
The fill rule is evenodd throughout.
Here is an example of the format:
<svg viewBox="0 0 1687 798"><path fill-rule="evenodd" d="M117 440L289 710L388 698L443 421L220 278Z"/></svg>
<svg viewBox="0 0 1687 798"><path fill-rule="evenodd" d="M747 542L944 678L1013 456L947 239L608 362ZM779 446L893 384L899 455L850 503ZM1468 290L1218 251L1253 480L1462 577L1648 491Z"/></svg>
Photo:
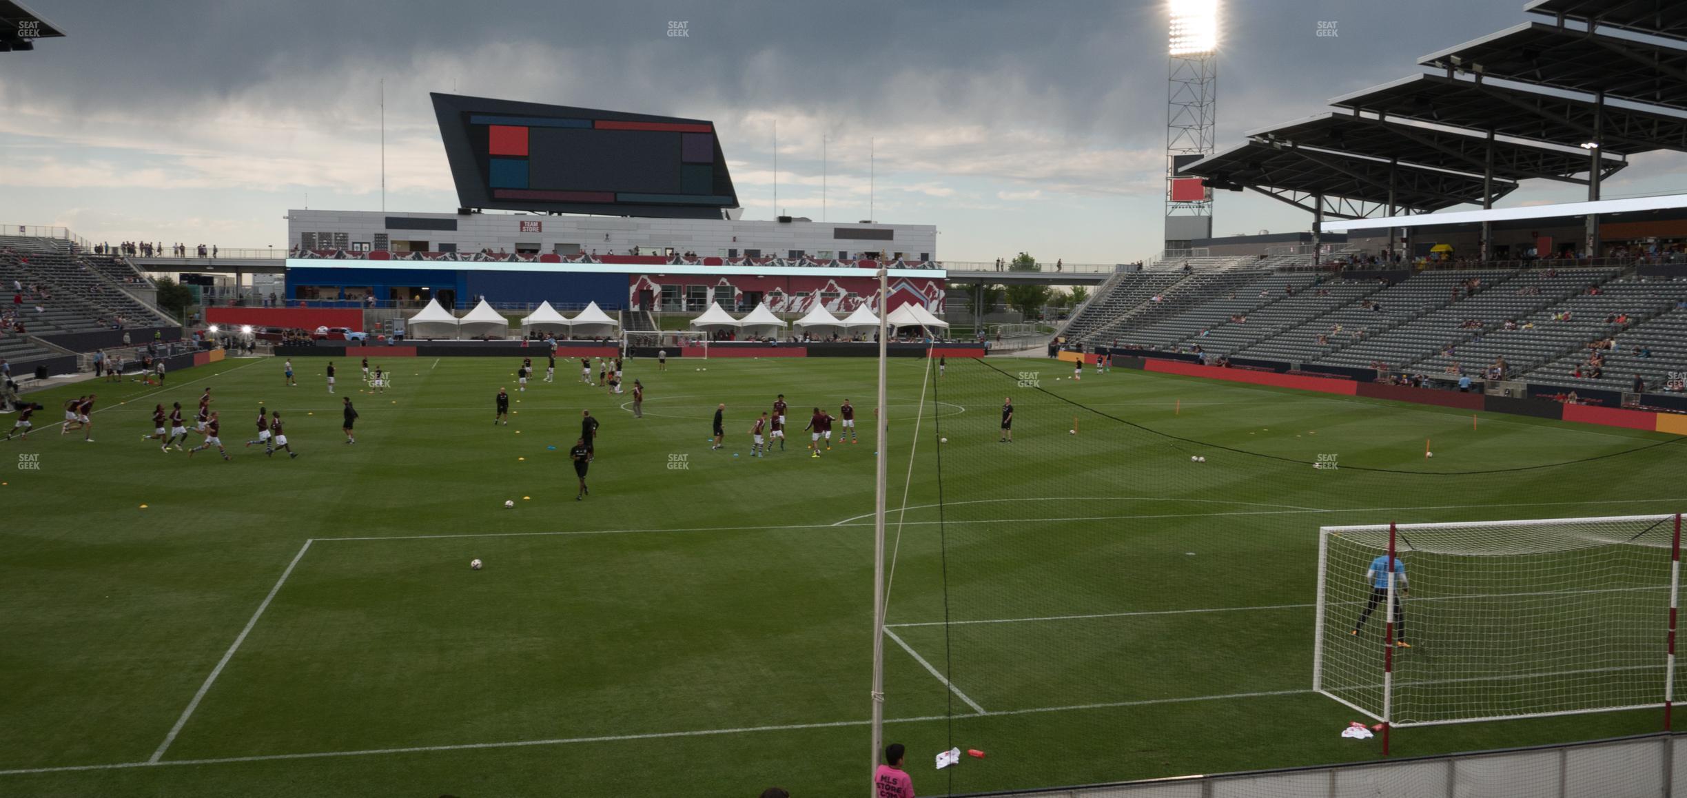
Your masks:
<svg viewBox="0 0 1687 798"><path fill-rule="evenodd" d="M1213 154L1218 127L1218 0L1169 0L1166 241L1186 250L1213 235L1213 192L1178 169Z"/></svg>

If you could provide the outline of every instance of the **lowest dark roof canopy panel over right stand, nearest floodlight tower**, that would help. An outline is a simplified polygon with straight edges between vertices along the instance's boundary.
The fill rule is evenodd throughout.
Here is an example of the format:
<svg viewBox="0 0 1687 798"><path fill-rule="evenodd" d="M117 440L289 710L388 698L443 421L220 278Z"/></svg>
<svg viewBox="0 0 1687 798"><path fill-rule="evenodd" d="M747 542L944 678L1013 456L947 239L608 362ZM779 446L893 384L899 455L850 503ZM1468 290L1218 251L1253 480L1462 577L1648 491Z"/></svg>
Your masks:
<svg viewBox="0 0 1687 798"><path fill-rule="evenodd" d="M1378 206L1393 204L1417 213L1483 201L1481 175L1259 140L1248 140L1208 155L1184 167L1181 174L1205 177L1206 184L1215 189L1255 189L1306 211L1314 211L1314 208L1284 196L1284 192L1341 197ZM1495 181L1493 197L1501 197L1515 189L1515 182Z"/></svg>

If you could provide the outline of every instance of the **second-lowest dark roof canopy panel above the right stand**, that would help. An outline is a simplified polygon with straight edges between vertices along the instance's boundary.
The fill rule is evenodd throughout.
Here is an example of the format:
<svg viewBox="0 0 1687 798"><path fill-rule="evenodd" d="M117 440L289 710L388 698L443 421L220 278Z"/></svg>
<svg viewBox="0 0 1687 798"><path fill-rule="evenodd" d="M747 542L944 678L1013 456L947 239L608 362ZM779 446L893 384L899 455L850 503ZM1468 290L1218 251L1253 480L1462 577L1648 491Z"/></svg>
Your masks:
<svg viewBox="0 0 1687 798"><path fill-rule="evenodd" d="M1269 128L1250 130L1250 138L1274 143L1292 142L1304 147L1336 150L1373 159L1400 159L1400 162L1483 174L1488 165L1490 142L1469 130L1447 130L1415 121L1382 120L1351 111L1324 111ZM1506 181L1547 177L1567 182L1587 182L1572 175L1591 169L1586 150L1552 147L1515 138L1495 138L1493 175ZM1628 165L1623 159L1603 154L1601 179Z"/></svg>

